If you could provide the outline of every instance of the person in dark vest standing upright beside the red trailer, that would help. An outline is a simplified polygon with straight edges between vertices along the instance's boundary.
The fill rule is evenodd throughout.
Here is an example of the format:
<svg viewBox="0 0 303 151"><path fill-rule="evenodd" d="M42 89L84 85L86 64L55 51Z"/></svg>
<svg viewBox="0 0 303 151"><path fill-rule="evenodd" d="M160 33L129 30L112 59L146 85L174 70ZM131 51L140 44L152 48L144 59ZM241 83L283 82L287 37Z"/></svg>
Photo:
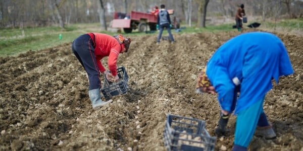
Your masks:
<svg viewBox="0 0 303 151"><path fill-rule="evenodd" d="M158 14L158 24L157 26L159 27L159 35L158 35L158 39L157 39L157 44L160 43L160 39L161 39L161 36L162 36L162 32L163 32L163 29L166 28L167 29L167 32L169 34L169 39L171 41L171 43L174 43L175 40L174 40L174 37L172 35L172 32L171 32L171 20L170 20L170 17L169 17L169 13L167 12L167 10L165 9L165 5L161 5L161 10Z"/></svg>

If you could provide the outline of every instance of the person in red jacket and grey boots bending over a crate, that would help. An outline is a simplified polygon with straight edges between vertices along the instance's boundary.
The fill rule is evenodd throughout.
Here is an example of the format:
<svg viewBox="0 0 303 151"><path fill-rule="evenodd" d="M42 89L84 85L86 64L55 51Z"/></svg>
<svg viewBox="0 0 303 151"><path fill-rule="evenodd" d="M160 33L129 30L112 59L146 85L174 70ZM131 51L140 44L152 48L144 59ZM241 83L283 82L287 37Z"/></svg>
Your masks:
<svg viewBox="0 0 303 151"><path fill-rule="evenodd" d="M93 109L112 102L101 100L100 72L105 74L108 80L117 81L119 79L117 73L118 55L128 51L130 42L130 38L122 35L110 36L102 33L87 33L73 41L73 53L88 74L88 94ZM105 56L109 56L108 66L110 72L105 69L100 61Z"/></svg>

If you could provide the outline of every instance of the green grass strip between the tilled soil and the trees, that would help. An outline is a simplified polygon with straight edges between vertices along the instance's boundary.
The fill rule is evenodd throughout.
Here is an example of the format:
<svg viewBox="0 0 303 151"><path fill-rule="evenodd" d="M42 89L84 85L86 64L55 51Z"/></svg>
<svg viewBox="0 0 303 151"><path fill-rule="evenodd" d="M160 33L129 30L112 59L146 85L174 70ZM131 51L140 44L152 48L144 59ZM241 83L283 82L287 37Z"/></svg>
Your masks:
<svg viewBox="0 0 303 151"><path fill-rule="evenodd" d="M206 28L196 28L195 25L188 27L181 25L181 31L173 34L182 33L200 33L200 32L228 32L232 29L233 24L221 24L217 26L207 25ZM260 28L277 29L285 31L303 31L303 19L296 20L280 20L279 22L262 22ZM109 35L117 35L118 33L102 31L99 23L92 24L74 24L68 25L65 29L59 27L39 27L39 28L23 28L23 29L0 29L0 56L14 56L28 50L38 51L45 48L51 48L63 43L71 43L81 34L88 32L105 33ZM59 39L59 34L62 34L62 39ZM122 33L128 37L145 36L147 33L133 30L132 33ZM158 35L158 32L148 33L149 35ZM167 35L167 30L164 30L163 36Z"/></svg>

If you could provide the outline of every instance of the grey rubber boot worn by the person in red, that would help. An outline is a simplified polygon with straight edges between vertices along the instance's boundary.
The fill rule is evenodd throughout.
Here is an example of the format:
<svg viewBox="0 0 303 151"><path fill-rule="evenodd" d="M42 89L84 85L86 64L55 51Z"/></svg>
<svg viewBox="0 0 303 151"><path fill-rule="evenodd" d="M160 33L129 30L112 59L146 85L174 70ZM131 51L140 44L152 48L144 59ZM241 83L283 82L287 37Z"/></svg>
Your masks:
<svg viewBox="0 0 303 151"><path fill-rule="evenodd" d="M88 95L93 109L105 106L112 102L112 100L107 102L101 100L100 89L89 90Z"/></svg>

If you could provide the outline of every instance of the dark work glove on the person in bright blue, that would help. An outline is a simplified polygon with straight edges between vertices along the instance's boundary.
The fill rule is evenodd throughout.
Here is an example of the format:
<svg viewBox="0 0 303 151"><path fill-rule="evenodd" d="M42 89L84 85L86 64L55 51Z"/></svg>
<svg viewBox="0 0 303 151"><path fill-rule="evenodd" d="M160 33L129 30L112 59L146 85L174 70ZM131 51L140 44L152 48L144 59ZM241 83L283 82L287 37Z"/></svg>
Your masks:
<svg viewBox="0 0 303 151"><path fill-rule="evenodd" d="M226 128L228 119L229 119L229 115L223 115L222 113L220 114L218 127L215 129L215 133L218 137L226 136L227 133L230 131L229 129Z"/></svg>

